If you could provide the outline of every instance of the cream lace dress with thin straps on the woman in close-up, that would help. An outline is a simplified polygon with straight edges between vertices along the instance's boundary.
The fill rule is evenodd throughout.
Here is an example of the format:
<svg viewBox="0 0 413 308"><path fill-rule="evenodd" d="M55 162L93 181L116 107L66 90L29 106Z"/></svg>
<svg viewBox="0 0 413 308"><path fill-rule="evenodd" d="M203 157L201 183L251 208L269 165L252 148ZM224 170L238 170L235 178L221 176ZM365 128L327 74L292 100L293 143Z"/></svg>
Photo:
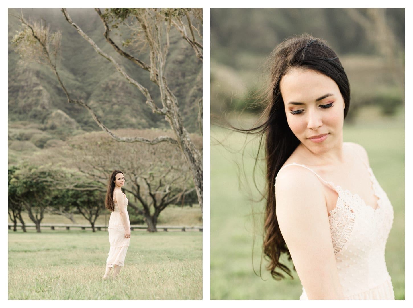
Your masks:
<svg viewBox="0 0 413 308"><path fill-rule="evenodd" d="M393 207L373 171L370 173L377 208L366 205L357 194L326 182L338 194L337 206L330 211L331 240L340 284L346 299L394 299L392 280L387 272L385 247L393 225ZM303 288L300 299L308 299Z"/></svg>

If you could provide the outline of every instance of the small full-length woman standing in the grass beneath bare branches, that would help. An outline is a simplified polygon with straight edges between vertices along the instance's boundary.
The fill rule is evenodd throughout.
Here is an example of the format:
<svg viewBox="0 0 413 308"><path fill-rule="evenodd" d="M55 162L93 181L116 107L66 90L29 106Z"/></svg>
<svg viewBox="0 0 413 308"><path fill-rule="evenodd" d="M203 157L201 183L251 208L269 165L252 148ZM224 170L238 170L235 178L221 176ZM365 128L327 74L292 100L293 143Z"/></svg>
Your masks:
<svg viewBox="0 0 413 308"><path fill-rule="evenodd" d="M107 187L105 207L112 211L109 218L109 256L106 260L106 271L103 279L109 277L109 272L114 268L113 277L116 277L125 261L126 252L131 238L131 223L127 210L128 199L122 193L122 186L125 184L123 172L114 170L109 178Z"/></svg>

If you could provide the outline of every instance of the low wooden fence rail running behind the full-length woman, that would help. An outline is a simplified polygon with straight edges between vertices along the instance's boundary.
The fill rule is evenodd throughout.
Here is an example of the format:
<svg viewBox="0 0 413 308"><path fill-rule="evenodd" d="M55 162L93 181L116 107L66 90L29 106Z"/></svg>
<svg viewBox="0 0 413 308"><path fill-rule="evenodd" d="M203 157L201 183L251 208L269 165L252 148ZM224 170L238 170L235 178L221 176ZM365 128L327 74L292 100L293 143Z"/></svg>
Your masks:
<svg viewBox="0 0 413 308"><path fill-rule="evenodd" d="M32 227L36 227L36 225L34 223L25 223L24 224L29 228ZM14 226L14 224L9 223L9 229L11 229ZM17 227L21 227L21 223L17 223L16 224ZM41 223L40 224L40 228L43 227L50 227L51 230L70 230L70 229L81 229L81 230L86 230L86 228L88 229L92 229L91 225L79 225L79 224L72 224L72 223ZM147 230L147 225L131 225L131 231L133 230ZM162 225L158 225L157 227L157 231L168 231L168 230L180 230L180 231L199 231L202 232L202 227L183 227L183 226L162 226ZM95 229L97 229L98 231L101 230L107 230L107 225L95 225Z"/></svg>

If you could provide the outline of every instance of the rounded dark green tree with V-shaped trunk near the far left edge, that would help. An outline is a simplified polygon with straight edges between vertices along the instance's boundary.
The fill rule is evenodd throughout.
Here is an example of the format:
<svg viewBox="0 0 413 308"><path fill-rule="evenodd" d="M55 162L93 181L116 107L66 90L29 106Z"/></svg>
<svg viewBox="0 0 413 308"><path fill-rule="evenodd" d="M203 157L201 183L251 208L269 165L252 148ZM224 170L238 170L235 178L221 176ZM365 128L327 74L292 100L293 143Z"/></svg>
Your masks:
<svg viewBox="0 0 413 308"><path fill-rule="evenodd" d="M29 218L40 232L44 212L55 197L51 185L53 172L33 166L24 166L12 174L9 182L11 198L24 205Z"/></svg>

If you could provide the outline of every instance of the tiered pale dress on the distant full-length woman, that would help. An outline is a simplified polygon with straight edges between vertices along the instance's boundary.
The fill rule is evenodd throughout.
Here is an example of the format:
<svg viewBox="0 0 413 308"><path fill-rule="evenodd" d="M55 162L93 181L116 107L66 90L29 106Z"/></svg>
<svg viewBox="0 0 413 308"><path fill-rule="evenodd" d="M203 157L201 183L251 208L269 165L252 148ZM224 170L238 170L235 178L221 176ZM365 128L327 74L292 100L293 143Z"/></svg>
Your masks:
<svg viewBox="0 0 413 308"><path fill-rule="evenodd" d="M131 227L127 208L128 199L125 197L126 217L128 218L129 227ZM123 226L121 213L119 211L119 206L117 203L115 203L114 211L110 214L108 230L110 249L108 258L106 260L106 266L123 266L123 263L125 262L126 252L128 251L130 239L125 238L125 227Z"/></svg>

